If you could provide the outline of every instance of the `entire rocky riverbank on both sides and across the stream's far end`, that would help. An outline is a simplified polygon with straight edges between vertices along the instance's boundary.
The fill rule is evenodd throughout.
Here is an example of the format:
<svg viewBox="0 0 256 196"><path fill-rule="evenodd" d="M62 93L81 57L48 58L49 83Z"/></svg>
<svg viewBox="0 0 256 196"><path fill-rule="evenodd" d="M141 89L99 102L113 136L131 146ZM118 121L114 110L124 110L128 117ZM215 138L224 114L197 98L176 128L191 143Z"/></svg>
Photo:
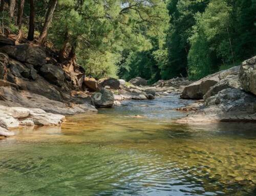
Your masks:
<svg viewBox="0 0 256 196"><path fill-rule="evenodd" d="M136 77L87 78L72 60L58 59L51 49L0 39L0 136L19 126L59 125L63 115L97 112L127 99L180 95L200 100L179 111L190 114L178 122L256 121L256 57L241 66L206 76L159 80L148 86Z"/></svg>

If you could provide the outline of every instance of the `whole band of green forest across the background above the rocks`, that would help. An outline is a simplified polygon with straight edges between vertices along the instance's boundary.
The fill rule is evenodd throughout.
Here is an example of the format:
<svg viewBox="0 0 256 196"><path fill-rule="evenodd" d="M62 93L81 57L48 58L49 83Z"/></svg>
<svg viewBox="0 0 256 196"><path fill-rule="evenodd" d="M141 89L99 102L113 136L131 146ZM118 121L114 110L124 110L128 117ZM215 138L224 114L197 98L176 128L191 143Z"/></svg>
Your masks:
<svg viewBox="0 0 256 196"><path fill-rule="evenodd" d="M87 76L200 79L255 55L255 0L1 0L1 33Z"/></svg>

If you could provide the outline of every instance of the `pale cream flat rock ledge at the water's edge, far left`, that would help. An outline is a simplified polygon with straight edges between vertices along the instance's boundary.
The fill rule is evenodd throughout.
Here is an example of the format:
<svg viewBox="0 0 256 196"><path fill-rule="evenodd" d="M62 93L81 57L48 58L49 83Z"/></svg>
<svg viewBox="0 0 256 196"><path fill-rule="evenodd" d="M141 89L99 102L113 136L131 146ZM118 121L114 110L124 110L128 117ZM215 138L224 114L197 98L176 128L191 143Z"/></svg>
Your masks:
<svg viewBox="0 0 256 196"><path fill-rule="evenodd" d="M0 136L13 136L14 133L10 129L20 126L57 126L63 121L65 116L47 113L39 108L0 105Z"/></svg>

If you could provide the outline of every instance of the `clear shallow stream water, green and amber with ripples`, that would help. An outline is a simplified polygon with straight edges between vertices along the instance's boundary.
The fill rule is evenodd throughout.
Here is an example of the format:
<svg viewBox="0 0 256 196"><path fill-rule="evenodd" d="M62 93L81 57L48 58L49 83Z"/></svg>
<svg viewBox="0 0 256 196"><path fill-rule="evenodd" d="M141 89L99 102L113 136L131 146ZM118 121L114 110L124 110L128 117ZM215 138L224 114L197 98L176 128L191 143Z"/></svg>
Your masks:
<svg viewBox="0 0 256 196"><path fill-rule="evenodd" d="M256 194L255 124L173 123L175 96L124 104L0 140L0 195Z"/></svg>

